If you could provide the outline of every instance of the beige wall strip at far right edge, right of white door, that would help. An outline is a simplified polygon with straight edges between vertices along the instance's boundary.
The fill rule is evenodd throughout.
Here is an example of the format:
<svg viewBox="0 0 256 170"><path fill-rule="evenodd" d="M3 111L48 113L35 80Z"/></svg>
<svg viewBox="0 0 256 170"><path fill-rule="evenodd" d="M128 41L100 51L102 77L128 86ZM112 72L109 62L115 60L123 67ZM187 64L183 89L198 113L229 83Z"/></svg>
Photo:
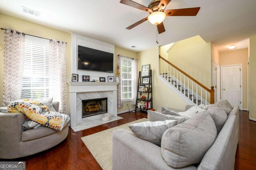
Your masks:
<svg viewBox="0 0 256 170"><path fill-rule="evenodd" d="M250 66L249 66L249 115L256 121L256 35L250 37Z"/></svg>

